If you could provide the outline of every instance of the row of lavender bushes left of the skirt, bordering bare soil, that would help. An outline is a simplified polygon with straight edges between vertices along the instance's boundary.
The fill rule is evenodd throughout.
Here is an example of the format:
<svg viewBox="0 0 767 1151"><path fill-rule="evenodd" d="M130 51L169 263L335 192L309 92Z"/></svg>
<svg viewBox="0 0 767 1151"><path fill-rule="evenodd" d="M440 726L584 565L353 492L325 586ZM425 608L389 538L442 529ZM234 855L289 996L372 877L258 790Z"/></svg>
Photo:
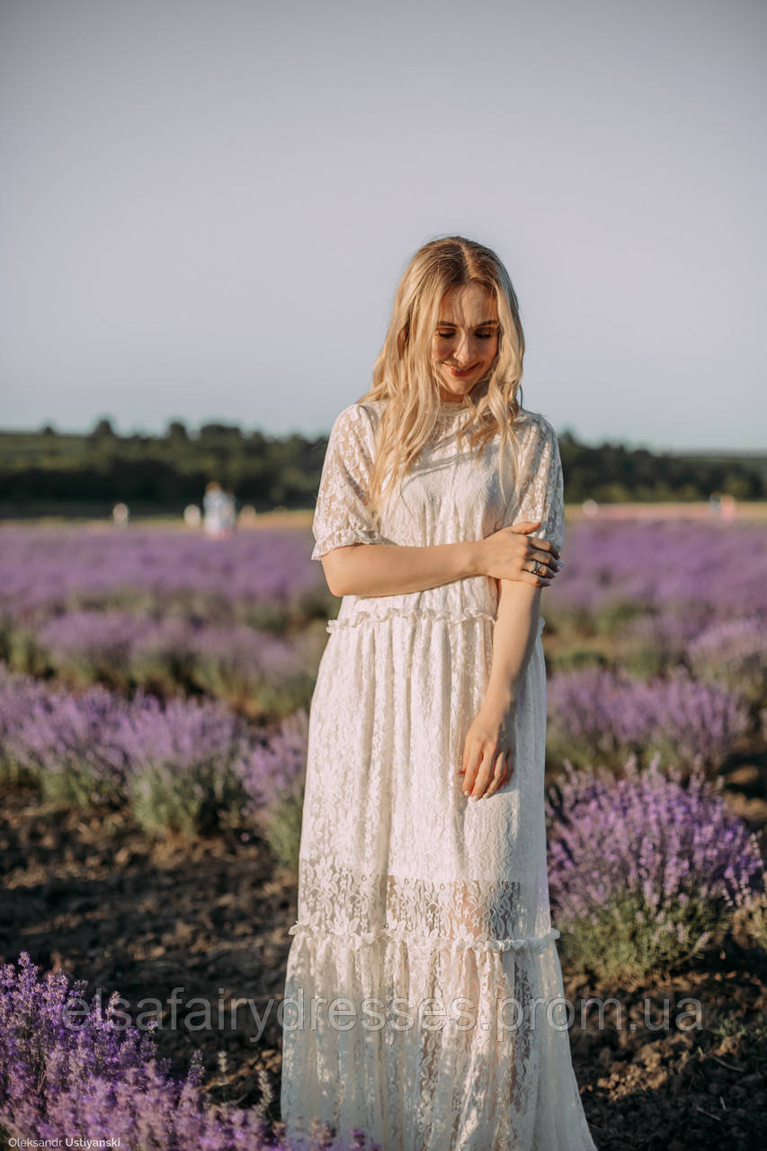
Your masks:
<svg viewBox="0 0 767 1151"><path fill-rule="evenodd" d="M128 803L149 831L258 822L303 770L301 754L271 748L296 731L301 746L305 712L266 734L211 700L75 695L0 665L0 775L68 803Z"/></svg>

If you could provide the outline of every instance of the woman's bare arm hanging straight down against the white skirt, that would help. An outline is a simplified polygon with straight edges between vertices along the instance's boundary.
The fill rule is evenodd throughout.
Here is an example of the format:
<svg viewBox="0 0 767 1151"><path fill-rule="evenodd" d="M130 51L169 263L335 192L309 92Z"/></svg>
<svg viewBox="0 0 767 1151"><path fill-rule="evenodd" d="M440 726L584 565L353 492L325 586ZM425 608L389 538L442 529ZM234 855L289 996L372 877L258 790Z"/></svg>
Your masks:
<svg viewBox="0 0 767 1151"><path fill-rule="evenodd" d="M493 662L483 704L466 733L463 793L492 795L514 769L514 721L540 619L541 588L500 580Z"/></svg>

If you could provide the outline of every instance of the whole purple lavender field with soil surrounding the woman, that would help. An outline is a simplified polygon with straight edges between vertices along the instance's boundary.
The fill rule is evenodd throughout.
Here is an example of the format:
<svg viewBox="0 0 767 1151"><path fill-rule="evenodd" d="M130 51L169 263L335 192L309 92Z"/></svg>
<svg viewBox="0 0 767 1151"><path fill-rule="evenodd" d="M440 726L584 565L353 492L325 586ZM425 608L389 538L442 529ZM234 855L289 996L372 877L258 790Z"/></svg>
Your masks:
<svg viewBox="0 0 767 1151"><path fill-rule="evenodd" d="M253 1042L252 1017L170 1027L166 1000L281 998L337 609L310 551L297 528L0 528L8 1134L287 1146L275 1015ZM767 532L598 517L563 555L544 595L552 915L568 997L617 997L630 1020L571 1029L594 1137L762 1145ZM119 1035L98 989L165 1006ZM643 1014L689 997L694 1030Z"/></svg>

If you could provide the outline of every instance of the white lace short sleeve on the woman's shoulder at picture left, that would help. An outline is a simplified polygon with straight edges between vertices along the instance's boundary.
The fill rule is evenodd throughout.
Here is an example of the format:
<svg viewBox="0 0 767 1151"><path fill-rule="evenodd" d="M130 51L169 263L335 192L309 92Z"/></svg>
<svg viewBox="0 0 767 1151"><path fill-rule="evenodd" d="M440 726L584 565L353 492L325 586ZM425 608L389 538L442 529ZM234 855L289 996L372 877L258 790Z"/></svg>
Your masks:
<svg viewBox="0 0 767 1151"><path fill-rule="evenodd" d="M327 441L312 523L312 559L349 543L382 543L365 504L373 465L374 430L362 404L336 418Z"/></svg>

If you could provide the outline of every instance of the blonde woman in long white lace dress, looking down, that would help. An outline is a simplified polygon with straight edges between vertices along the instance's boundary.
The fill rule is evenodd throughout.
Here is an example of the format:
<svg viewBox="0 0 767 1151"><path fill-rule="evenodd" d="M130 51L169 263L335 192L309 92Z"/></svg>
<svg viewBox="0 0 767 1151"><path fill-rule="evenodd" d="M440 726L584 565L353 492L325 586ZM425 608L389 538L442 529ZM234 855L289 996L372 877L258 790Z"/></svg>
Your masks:
<svg viewBox="0 0 767 1151"><path fill-rule="evenodd" d="M385 1151L593 1149L548 907L540 596L556 436L518 399L498 257L412 258L328 440L312 558L342 596L312 698L282 1118Z"/></svg>

